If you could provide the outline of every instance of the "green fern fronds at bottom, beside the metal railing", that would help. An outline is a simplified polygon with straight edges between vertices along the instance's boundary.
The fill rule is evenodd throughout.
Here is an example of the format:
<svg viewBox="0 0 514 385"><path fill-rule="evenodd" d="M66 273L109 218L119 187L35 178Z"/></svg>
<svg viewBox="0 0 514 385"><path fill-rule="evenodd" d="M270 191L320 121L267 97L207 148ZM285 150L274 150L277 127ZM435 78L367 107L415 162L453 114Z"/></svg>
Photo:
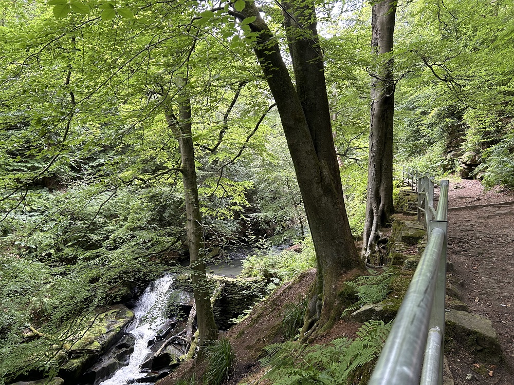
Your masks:
<svg viewBox="0 0 514 385"><path fill-rule="evenodd" d="M266 377L274 385L357 384L380 354L390 330L391 323L370 321L361 326L355 340L338 338L313 346L296 342L269 345L261 363L271 367Z"/></svg>

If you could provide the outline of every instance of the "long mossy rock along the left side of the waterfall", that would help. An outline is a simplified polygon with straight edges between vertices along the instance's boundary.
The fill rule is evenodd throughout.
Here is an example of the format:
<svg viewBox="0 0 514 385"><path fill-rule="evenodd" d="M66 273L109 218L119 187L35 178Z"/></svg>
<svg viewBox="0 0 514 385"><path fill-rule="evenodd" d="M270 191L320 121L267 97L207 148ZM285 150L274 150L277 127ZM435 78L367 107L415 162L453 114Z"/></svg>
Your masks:
<svg viewBox="0 0 514 385"><path fill-rule="evenodd" d="M134 313L118 304L109 307L95 317L86 330L79 331L78 338L69 350L70 359L59 370L59 376L66 382L75 382L94 361L111 348L123 335Z"/></svg>

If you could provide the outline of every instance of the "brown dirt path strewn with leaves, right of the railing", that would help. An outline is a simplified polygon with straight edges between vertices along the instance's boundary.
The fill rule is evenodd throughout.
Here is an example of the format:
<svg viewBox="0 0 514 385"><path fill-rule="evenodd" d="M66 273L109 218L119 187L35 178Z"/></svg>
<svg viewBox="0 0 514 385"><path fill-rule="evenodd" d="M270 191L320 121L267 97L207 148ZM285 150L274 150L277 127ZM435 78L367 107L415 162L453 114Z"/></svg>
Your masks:
<svg viewBox="0 0 514 385"><path fill-rule="evenodd" d="M454 271L449 273L462 280L461 299L469 311L492 321L505 360L498 368L488 368L491 377L483 377L473 371L473 364L480 362L466 352L450 353L456 384L514 385L513 201L505 191L484 192L478 181L450 181L448 260Z"/></svg>

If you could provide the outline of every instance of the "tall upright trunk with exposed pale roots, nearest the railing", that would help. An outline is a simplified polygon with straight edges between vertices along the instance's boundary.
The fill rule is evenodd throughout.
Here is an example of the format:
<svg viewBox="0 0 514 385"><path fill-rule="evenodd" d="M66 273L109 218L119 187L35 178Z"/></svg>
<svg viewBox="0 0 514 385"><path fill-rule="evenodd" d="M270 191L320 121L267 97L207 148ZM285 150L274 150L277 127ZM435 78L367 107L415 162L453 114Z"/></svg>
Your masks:
<svg viewBox="0 0 514 385"><path fill-rule="evenodd" d="M371 84L370 158L368 164L368 199L364 223L362 254L374 265L384 264L377 241L381 227L394 213L393 207L393 49L396 1L382 0L372 7L373 51L386 54L378 65ZM380 60L380 59L379 59Z"/></svg>

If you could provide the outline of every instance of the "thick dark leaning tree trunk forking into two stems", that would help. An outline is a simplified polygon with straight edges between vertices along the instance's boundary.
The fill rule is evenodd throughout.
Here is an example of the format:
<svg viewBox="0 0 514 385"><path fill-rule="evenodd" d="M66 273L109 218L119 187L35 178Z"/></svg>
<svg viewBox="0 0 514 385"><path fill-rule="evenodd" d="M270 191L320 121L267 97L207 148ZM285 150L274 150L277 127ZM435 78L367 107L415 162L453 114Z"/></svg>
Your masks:
<svg viewBox="0 0 514 385"><path fill-rule="evenodd" d="M255 17L250 23L259 32L254 51L277 103L316 250L316 281L302 330L305 334L320 330L319 326L332 327L342 311L341 282L348 272L360 270L362 263L344 207L315 9L293 3L284 8L297 89L255 3L247 1L242 16ZM291 22L291 17L301 18L302 27Z"/></svg>

